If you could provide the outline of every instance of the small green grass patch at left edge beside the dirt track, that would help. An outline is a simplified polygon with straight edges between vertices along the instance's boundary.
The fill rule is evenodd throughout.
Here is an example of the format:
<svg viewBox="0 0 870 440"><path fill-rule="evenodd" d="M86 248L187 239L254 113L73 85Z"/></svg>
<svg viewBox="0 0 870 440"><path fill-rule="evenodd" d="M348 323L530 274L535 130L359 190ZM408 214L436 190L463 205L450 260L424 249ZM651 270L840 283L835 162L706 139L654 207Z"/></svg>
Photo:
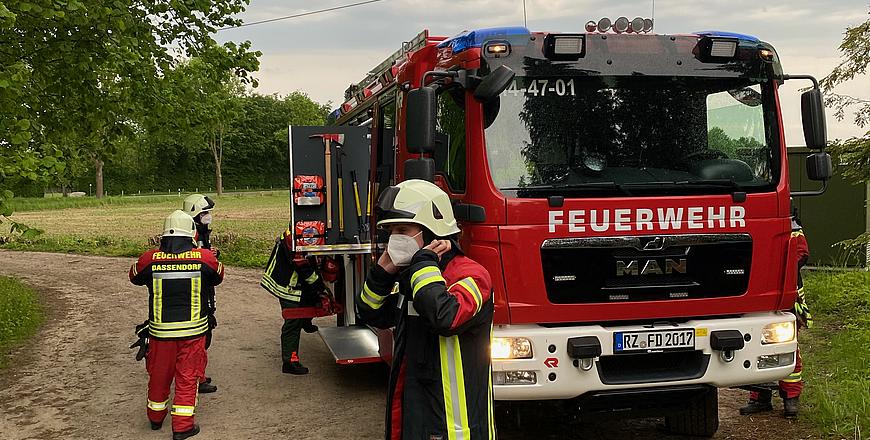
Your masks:
<svg viewBox="0 0 870 440"><path fill-rule="evenodd" d="M0 277L0 368L11 348L36 332L42 309L33 289L14 278Z"/></svg>

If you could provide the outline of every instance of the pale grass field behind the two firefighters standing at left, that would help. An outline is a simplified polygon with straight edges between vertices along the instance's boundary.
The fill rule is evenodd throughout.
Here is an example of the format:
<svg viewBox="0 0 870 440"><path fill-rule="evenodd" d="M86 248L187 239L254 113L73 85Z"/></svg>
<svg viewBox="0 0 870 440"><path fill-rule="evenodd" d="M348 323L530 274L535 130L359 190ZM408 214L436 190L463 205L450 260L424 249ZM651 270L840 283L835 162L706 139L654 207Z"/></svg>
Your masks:
<svg viewBox="0 0 870 440"><path fill-rule="evenodd" d="M13 199L13 218L45 233L32 241L13 240L5 249L135 257L152 247L163 219L181 207L182 197ZM263 267L272 243L287 227L285 192L215 198L212 243L228 265Z"/></svg>

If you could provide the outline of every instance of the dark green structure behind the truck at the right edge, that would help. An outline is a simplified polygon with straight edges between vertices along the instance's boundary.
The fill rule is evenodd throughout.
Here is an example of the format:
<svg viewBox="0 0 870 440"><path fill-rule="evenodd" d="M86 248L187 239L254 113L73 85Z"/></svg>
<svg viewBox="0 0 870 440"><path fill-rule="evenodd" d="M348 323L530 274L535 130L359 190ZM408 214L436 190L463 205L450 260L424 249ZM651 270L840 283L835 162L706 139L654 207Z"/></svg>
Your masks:
<svg viewBox="0 0 870 440"><path fill-rule="evenodd" d="M807 179L804 171L806 157L813 152L803 147L788 149L792 191L815 190L821 186L821 182ZM810 245L812 265L870 267L870 254L866 249L847 253L842 246L836 246L836 243L870 231L870 185L853 184L843 179L840 170L845 166L834 163L834 176L828 182L825 194L794 199Z"/></svg>

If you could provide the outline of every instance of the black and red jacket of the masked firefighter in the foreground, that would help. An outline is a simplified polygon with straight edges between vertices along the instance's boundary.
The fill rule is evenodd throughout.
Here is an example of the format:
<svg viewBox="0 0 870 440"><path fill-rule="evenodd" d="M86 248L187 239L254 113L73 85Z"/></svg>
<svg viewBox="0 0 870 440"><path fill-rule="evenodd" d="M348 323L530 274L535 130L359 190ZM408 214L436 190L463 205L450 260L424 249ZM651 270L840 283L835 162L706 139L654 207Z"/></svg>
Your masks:
<svg viewBox="0 0 870 440"><path fill-rule="evenodd" d="M483 266L459 251L439 262L421 250L398 275L374 265L355 302L363 323L395 327L387 439L495 438L492 281Z"/></svg>

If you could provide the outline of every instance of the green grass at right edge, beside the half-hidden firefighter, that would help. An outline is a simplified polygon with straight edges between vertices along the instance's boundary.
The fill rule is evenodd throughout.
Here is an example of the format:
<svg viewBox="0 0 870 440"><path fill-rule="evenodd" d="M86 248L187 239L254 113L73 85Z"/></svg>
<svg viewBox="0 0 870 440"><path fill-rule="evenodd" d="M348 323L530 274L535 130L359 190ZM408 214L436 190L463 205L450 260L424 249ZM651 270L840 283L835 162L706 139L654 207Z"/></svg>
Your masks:
<svg viewBox="0 0 870 440"><path fill-rule="evenodd" d="M870 273L807 274L815 326L801 332L805 418L826 435L870 435Z"/></svg>

